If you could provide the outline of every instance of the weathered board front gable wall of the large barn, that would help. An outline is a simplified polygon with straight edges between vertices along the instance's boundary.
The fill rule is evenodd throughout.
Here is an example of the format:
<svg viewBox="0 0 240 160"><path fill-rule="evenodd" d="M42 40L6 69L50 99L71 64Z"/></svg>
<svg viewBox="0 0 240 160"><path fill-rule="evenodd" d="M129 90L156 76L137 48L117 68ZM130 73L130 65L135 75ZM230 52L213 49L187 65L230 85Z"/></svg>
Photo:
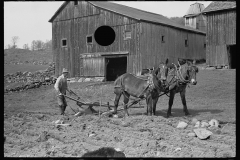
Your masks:
<svg viewBox="0 0 240 160"><path fill-rule="evenodd" d="M114 43L104 47L98 45L93 38L93 44L87 44L86 36L94 35L95 30L103 25L114 29L116 34ZM131 31L131 39L124 40L125 31ZM139 23L134 19L94 7L85 1L79 1L77 6L70 2L53 22L56 75L60 75L62 68L66 67L71 77L104 76L104 57L82 59L80 55L121 51L129 52L130 62L128 62L127 71L135 73L139 70L135 59L139 50L137 50L139 47L138 31ZM68 40L66 48L61 47L62 38Z"/></svg>

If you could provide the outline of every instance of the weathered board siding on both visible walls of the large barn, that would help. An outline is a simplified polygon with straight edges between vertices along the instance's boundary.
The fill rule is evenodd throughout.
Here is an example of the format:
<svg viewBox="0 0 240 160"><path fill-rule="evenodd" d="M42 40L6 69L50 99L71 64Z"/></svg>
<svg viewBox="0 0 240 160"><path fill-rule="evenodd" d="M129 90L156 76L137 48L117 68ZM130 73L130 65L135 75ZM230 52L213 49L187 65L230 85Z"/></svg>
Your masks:
<svg viewBox="0 0 240 160"><path fill-rule="evenodd" d="M178 58L205 58L205 34L188 32L160 24L140 22L111 11L95 7L89 2L69 2L52 23L53 53L56 63L55 75L62 68L70 71L70 77L104 77L105 57L101 53L128 52L127 72L140 74L142 68L152 67L165 61L176 62ZM94 35L103 25L111 26L116 34L114 43L109 46L86 43L86 36ZM125 31L131 32L131 39L124 40ZM161 36L165 36L165 43ZM67 39L67 46L61 40ZM188 47L185 47L188 39ZM96 56L99 53L100 56ZM89 55L89 56L82 56ZM95 55L95 56L94 56Z"/></svg>

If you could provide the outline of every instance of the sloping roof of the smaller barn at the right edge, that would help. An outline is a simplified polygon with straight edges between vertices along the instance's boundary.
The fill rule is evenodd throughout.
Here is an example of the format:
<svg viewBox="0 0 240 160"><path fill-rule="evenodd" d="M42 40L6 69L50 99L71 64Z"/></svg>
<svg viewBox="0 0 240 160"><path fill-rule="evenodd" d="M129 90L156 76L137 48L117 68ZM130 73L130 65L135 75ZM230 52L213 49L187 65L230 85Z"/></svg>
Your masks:
<svg viewBox="0 0 240 160"><path fill-rule="evenodd" d="M210 3L204 13L236 8L236 1L215 1Z"/></svg>

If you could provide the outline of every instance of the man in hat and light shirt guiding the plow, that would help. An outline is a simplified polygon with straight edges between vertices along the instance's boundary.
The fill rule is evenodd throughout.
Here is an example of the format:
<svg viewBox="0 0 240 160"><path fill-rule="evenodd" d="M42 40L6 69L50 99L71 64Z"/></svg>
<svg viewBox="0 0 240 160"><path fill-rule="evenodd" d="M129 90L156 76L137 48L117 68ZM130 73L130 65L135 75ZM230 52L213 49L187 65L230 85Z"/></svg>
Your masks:
<svg viewBox="0 0 240 160"><path fill-rule="evenodd" d="M68 78L68 70L63 68L62 75L57 78L57 81L54 85L54 88L58 92L57 100L58 100L58 105L60 108L61 115L64 115L65 109L67 107L67 102L64 97L64 95L66 95L66 91L68 91L70 95L72 94L67 86L67 78Z"/></svg>

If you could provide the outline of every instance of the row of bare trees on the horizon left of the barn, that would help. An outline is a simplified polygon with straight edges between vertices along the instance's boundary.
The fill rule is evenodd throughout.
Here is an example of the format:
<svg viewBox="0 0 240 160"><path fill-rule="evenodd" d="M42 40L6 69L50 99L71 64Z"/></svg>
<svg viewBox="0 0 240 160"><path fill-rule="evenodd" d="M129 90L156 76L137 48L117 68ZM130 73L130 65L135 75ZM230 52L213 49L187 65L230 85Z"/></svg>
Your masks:
<svg viewBox="0 0 240 160"><path fill-rule="evenodd" d="M18 36L13 36L11 39L11 44L5 46L5 49L14 49L18 48L17 42L19 41ZM52 49L52 40L46 40L45 42L41 40L33 40L30 46L28 44L24 44L23 49L32 50L32 51L39 51L39 50L47 50Z"/></svg>

